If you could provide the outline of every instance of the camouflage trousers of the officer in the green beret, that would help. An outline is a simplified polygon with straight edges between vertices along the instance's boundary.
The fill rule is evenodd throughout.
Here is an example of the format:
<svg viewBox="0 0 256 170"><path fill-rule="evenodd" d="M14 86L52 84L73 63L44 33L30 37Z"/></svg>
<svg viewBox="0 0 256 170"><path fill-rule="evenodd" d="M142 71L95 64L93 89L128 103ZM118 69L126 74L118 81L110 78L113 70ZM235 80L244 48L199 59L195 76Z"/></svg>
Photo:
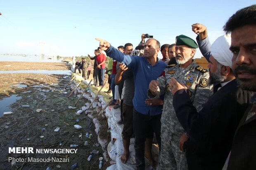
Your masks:
<svg viewBox="0 0 256 170"><path fill-rule="evenodd" d="M172 134L168 130L161 133L161 170L187 170L185 152L179 149L181 134Z"/></svg>

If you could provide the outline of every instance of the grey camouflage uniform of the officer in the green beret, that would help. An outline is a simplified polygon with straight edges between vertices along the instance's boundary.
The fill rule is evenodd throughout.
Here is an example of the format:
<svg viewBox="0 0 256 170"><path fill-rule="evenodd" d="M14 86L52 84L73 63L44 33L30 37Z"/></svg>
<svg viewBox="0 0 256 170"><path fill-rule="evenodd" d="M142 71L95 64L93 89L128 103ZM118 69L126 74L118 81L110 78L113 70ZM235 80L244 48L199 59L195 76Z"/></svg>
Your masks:
<svg viewBox="0 0 256 170"><path fill-rule="evenodd" d="M194 61L187 68L181 68L178 64L168 65L165 76L157 79L160 93L156 97L165 93L161 118L161 170L187 170L185 153L179 149L180 136L184 129L176 117L173 95L168 85L172 77L188 87L190 99L198 111L212 95L212 86L208 85L209 72Z"/></svg>

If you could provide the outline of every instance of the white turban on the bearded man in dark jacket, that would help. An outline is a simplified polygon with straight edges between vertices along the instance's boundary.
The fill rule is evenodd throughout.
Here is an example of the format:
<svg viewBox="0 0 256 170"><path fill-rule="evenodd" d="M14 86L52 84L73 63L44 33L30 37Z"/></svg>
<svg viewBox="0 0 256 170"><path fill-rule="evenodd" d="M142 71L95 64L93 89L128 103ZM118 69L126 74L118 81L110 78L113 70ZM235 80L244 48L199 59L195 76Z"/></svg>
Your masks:
<svg viewBox="0 0 256 170"><path fill-rule="evenodd" d="M222 35L211 45L211 55L222 65L232 66L233 54L229 50L231 44L231 36Z"/></svg>

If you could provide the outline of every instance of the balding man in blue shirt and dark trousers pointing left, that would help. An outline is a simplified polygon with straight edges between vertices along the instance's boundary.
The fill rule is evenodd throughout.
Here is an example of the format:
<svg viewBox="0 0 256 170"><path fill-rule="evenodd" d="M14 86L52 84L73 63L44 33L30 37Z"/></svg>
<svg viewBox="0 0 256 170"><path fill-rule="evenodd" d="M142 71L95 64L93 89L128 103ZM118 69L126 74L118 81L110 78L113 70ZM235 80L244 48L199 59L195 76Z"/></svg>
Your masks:
<svg viewBox="0 0 256 170"><path fill-rule="evenodd" d="M137 170L145 169L145 139L149 129L153 129L161 149L161 113L162 106L147 105L147 89L149 82L156 80L163 72L166 64L160 61L157 54L160 51L160 43L155 39L149 39L144 45L144 56L129 56L121 53L109 42L96 38L100 41L100 48L107 56L114 58L133 69L135 94L133 98L133 125L135 134L135 158Z"/></svg>

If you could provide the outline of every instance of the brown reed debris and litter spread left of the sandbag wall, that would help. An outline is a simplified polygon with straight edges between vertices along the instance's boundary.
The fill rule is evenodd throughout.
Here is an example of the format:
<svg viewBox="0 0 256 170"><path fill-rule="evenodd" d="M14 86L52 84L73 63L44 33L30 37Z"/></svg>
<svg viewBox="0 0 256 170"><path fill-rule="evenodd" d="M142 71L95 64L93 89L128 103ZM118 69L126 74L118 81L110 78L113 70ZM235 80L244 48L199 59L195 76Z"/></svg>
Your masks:
<svg viewBox="0 0 256 170"><path fill-rule="evenodd" d="M17 62L15 62L17 63ZM2 64L11 65L5 67L12 67L13 63L0 62ZM30 62L27 62L30 65ZM54 67L57 70L57 65L62 65L60 70L68 69L64 63L40 63L41 69ZM26 64L24 64L25 66ZM26 70L19 65L21 70ZM38 67L37 64L34 66ZM65 69L64 69L65 68ZM29 68L28 70L33 70ZM38 68L36 69L38 70ZM82 106L90 105L90 101L82 98L75 106L78 99L76 95L71 95L70 86L75 84L68 84L71 77L64 75L42 75L29 73L15 73L15 74L0 74L0 99L15 94L21 97L14 102L9 108L12 109L12 114L0 117L0 169L19 169L19 170L45 170L50 167L51 170L71 169L71 165L78 163L79 170L96 170L99 169L99 157L103 156L103 150L97 142L97 135L95 127L85 112L77 115L76 112ZM23 88L13 86L17 84L26 85ZM66 87L66 88L65 88ZM85 92L87 93L87 92ZM88 93L88 95L90 95ZM1 102L1 100L0 100ZM69 109L68 106L77 107L76 109ZM39 109L39 110L38 110ZM96 117L100 121L99 135L106 140L110 140L110 135L107 131L107 121L102 116L97 116L98 113L94 108L88 109L91 117ZM79 119L79 120L78 120ZM74 125L80 125L81 129L74 128ZM55 129L59 131L55 132ZM86 137L86 133L92 134L91 138ZM85 141L88 145L85 146ZM8 151L9 147L33 147L36 149L73 149L71 144L78 145L76 154L71 153L30 153L30 154L13 154ZM95 151L99 151L99 153ZM92 159L87 161L88 156L92 154ZM62 158L68 160L67 162L29 162L29 158ZM15 163L12 160L15 159ZM26 161L19 161L24 158ZM65 158L65 159L64 159ZM61 159L59 159L61 160ZM59 166L58 166L59 165ZM103 161L102 169L106 169L109 163Z"/></svg>

